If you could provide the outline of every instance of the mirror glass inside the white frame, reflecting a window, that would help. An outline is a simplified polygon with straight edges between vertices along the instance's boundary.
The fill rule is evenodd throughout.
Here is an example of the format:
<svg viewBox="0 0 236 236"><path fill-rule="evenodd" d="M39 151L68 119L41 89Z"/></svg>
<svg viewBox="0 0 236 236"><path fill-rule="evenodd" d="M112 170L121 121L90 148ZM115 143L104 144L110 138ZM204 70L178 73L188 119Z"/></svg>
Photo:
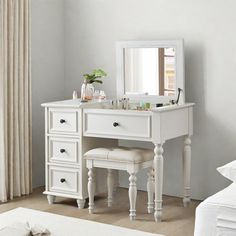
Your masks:
<svg viewBox="0 0 236 236"><path fill-rule="evenodd" d="M175 48L123 50L126 95L176 95Z"/></svg>

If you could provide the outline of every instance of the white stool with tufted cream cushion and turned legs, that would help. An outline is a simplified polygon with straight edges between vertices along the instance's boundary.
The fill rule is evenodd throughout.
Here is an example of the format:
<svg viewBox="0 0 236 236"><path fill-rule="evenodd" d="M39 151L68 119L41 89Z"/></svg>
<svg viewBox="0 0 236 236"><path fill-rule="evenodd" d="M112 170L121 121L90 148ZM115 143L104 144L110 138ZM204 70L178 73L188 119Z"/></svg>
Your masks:
<svg viewBox="0 0 236 236"><path fill-rule="evenodd" d="M147 192L148 192L148 213L153 212L154 200L154 172L153 158L154 153L149 149L141 148L95 148L84 154L88 171L88 195L89 195L89 213L94 211L95 180L94 167L106 168L107 188L108 188L108 207L112 206L114 177L113 170L126 170L129 177L129 202L130 202L130 220L136 217L136 197L137 185L136 174L139 170L150 168L148 171Z"/></svg>

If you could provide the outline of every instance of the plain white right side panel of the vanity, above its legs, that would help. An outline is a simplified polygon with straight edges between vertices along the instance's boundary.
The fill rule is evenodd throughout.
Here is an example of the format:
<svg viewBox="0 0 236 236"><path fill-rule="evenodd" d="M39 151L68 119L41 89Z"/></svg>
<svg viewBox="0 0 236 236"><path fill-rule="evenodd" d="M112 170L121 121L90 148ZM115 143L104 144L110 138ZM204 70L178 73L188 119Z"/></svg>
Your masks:
<svg viewBox="0 0 236 236"><path fill-rule="evenodd" d="M161 139L168 140L189 133L189 109L161 112Z"/></svg>

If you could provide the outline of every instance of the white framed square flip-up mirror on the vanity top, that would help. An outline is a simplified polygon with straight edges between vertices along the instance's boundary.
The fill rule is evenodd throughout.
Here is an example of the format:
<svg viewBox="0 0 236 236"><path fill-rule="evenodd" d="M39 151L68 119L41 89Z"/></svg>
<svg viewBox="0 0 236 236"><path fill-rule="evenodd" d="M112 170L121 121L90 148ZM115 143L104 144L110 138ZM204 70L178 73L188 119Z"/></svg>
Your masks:
<svg viewBox="0 0 236 236"><path fill-rule="evenodd" d="M183 40L120 41L116 45L117 97L144 101L176 100L184 96Z"/></svg>

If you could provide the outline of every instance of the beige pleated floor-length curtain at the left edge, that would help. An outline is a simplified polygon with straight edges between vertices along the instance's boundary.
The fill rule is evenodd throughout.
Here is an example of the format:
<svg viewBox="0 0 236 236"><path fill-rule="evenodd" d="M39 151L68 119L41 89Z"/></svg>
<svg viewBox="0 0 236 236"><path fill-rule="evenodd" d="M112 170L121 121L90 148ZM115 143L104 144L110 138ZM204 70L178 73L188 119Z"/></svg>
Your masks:
<svg viewBox="0 0 236 236"><path fill-rule="evenodd" d="M0 0L0 202L32 191L30 0Z"/></svg>

